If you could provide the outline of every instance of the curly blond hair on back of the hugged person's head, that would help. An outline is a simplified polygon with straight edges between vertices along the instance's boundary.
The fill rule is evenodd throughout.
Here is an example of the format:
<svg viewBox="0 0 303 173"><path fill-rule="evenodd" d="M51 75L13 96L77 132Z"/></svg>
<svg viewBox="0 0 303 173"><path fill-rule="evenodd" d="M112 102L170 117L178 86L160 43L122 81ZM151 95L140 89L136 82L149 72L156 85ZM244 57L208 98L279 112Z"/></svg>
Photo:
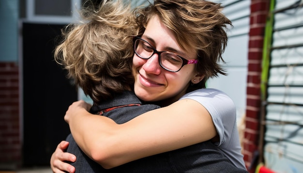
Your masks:
<svg viewBox="0 0 303 173"><path fill-rule="evenodd" d="M85 6L83 21L62 30L63 42L56 47L55 60L98 103L133 87L137 25L130 6L119 0L103 0L97 8Z"/></svg>

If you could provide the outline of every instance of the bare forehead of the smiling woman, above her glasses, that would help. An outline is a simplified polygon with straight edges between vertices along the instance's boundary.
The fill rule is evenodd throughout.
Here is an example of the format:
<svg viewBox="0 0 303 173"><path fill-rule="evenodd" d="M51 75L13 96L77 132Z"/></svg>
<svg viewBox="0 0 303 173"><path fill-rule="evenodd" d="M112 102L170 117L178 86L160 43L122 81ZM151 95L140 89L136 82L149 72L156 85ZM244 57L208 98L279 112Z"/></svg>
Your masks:
<svg viewBox="0 0 303 173"><path fill-rule="evenodd" d="M159 51L173 50L180 56L197 58L196 51L194 49L181 48L173 32L163 24L158 15L153 15L150 18L142 38L152 43Z"/></svg>

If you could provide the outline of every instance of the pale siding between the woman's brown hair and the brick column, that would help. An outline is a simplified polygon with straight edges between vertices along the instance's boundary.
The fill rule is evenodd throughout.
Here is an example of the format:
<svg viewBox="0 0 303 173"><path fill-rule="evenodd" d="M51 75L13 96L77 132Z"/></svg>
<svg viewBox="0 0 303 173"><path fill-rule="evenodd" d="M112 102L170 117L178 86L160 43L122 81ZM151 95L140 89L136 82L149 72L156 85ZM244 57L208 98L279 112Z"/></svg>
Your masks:
<svg viewBox="0 0 303 173"><path fill-rule="evenodd" d="M223 13L231 20L227 48L223 54L227 76L210 79L208 87L226 92L235 102L237 119L241 120L246 108L246 79L248 64L250 0L213 0L222 3Z"/></svg>

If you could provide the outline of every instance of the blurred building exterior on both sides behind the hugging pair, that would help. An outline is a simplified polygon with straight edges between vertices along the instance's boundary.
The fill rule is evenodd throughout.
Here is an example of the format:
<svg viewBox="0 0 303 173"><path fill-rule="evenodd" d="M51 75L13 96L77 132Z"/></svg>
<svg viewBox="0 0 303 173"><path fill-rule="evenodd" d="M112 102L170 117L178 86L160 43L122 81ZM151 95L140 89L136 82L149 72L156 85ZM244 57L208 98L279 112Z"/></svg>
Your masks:
<svg viewBox="0 0 303 173"><path fill-rule="evenodd" d="M255 173L263 163L277 173L299 173L302 0L213 1L225 6L233 28L224 54L229 75L207 86L225 91L236 104L246 167ZM132 5L145 2L132 0ZM76 20L79 4L0 0L0 170L47 166L69 133L63 115L82 96L52 60L52 50L60 29Z"/></svg>

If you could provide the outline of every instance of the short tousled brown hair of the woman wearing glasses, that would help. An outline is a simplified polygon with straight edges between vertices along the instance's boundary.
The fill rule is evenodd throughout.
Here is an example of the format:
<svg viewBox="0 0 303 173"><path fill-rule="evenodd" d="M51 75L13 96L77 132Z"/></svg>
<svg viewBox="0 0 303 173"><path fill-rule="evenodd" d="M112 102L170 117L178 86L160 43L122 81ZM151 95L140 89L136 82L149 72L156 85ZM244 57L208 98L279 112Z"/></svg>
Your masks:
<svg viewBox="0 0 303 173"><path fill-rule="evenodd" d="M220 62L225 63L222 54L227 45L227 25L231 26L231 22L222 10L220 4L206 0L154 0L145 8L136 9L139 35L151 17L158 15L184 50L189 47L197 50L196 70L205 77L191 85L187 92L205 88L207 79L218 73L226 75Z"/></svg>

